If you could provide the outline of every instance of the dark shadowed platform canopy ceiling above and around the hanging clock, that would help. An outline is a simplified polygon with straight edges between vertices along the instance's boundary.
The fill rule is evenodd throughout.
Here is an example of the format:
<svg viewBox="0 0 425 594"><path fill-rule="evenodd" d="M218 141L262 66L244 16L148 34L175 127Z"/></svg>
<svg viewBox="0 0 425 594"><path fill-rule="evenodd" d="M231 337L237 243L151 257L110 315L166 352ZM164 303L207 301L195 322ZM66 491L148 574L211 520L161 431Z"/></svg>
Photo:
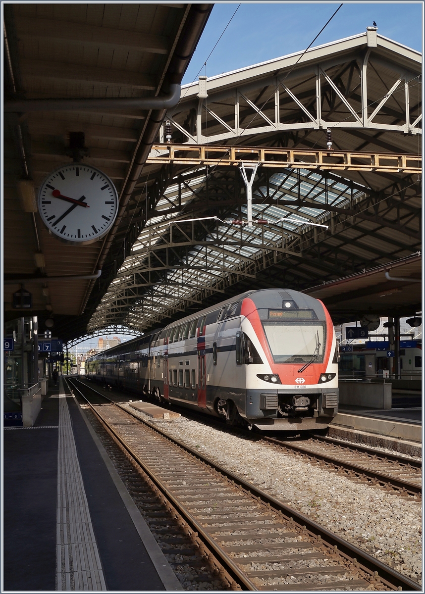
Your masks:
<svg viewBox="0 0 425 594"><path fill-rule="evenodd" d="M45 330L44 322L52 316L53 334L65 340L86 332L103 295L102 286L87 277L96 276L108 257L114 261L122 253L123 242L128 245L137 236L135 230L128 233L122 219L165 115L163 108L129 108L121 100L167 97L176 86L178 100L182 76L212 7L4 5L6 320L38 315L40 330ZM33 99L48 101L43 109L34 109L29 105ZM58 99L80 103L58 109ZM99 106L99 99L112 101ZM76 153L70 145L81 138L84 143ZM119 194L119 213L109 235L77 247L49 235L34 199L49 172L75 158L105 172ZM22 285L32 293L32 308L26 311L12 308L12 293Z"/></svg>

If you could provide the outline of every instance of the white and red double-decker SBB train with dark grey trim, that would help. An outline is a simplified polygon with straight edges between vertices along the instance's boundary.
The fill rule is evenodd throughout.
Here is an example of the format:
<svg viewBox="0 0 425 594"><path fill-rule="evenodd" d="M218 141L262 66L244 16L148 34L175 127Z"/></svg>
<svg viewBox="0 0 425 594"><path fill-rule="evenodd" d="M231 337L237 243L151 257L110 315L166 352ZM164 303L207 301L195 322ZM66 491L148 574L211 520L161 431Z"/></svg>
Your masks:
<svg viewBox="0 0 425 594"><path fill-rule="evenodd" d="M253 290L86 361L86 376L263 430L338 412L338 344L322 302Z"/></svg>

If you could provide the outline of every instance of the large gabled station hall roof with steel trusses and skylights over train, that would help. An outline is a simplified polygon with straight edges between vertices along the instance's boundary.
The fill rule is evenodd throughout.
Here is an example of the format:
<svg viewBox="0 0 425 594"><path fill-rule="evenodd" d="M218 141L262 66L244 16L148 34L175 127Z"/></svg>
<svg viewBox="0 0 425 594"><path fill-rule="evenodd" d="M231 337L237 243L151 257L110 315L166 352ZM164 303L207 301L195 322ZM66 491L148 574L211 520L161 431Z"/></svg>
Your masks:
<svg viewBox="0 0 425 594"><path fill-rule="evenodd" d="M358 151L369 163L373 155L376 163L418 155L421 55L370 28L306 53L201 78L182 87L166 121L155 143L164 141L169 125L173 146L240 147L250 165L256 147L315 151L328 140L350 162L362 163ZM386 170L311 166L303 156L296 165L281 157L259 163L248 226L237 164L224 156L215 164L163 162L167 154L167 147L151 151L84 314L62 320L64 339L86 328L147 331L253 287L308 292L421 249L420 169L404 168L401 157ZM395 304L401 315L420 304L420 283L412 284L418 296ZM364 300L335 311L335 321L358 319L366 307ZM391 308L377 302L372 309L389 315Z"/></svg>

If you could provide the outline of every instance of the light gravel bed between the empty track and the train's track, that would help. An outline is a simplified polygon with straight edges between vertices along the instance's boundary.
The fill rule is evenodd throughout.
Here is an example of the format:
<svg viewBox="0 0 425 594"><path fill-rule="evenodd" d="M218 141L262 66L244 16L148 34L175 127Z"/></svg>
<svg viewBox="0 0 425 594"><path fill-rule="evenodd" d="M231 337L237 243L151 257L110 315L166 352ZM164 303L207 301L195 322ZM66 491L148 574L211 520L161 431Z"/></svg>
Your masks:
<svg viewBox="0 0 425 594"><path fill-rule="evenodd" d="M177 440L212 458L273 497L325 526L395 570L421 580L421 505L393 492L351 481L182 416L155 420L124 405Z"/></svg>

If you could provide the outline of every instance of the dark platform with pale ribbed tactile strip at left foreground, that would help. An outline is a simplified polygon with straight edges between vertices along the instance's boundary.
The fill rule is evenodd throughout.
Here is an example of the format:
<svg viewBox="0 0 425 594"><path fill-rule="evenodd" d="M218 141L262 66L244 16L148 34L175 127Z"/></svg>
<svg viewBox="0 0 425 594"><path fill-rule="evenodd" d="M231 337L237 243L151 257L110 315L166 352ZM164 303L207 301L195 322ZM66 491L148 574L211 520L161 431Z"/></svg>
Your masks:
<svg viewBox="0 0 425 594"><path fill-rule="evenodd" d="M4 590L181 590L60 378L33 427L4 429Z"/></svg>

